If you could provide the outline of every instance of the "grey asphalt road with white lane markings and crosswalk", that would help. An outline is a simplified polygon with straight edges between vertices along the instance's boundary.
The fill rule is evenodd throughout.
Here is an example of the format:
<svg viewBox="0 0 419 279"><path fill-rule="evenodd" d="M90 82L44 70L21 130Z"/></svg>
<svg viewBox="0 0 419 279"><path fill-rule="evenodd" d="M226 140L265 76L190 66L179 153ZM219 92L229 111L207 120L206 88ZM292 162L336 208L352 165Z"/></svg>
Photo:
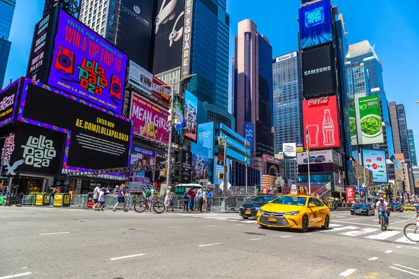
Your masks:
<svg viewBox="0 0 419 279"><path fill-rule="evenodd" d="M0 206L0 279L419 278L402 232L413 217L392 213L383 235L376 216L338 211L332 229L302 234L235 213Z"/></svg>

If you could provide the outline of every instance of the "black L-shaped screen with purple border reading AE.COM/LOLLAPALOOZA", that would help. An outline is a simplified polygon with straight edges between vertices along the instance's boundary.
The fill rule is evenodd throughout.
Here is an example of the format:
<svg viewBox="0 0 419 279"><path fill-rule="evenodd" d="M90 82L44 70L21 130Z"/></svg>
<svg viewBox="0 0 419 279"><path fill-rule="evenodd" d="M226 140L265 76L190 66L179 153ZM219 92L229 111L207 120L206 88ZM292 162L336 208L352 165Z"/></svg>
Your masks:
<svg viewBox="0 0 419 279"><path fill-rule="evenodd" d="M66 133L63 172L127 167L130 163L129 119L68 93L51 91L50 86L24 79L17 120Z"/></svg>

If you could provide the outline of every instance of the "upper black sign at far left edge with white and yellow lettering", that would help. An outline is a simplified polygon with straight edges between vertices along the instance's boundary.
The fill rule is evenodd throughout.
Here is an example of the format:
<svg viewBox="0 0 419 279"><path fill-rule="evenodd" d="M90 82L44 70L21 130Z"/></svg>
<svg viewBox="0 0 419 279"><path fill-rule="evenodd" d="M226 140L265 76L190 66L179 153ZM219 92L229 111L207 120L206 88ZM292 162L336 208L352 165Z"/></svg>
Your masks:
<svg viewBox="0 0 419 279"><path fill-rule="evenodd" d="M0 91L0 127L13 121L16 111L17 90L19 89L18 81L16 80Z"/></svg>

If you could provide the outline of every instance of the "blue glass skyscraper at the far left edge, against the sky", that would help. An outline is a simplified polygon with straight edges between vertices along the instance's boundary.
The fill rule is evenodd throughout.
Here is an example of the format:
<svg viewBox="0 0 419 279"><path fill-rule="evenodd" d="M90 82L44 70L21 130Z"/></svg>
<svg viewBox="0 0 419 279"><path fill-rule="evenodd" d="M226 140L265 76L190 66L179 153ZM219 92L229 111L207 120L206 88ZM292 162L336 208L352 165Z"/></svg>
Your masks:
<svg viewBox="0 0 419 279"><path fill-rule="evenodd" d="M16 0L0 0L0 84L3 85L6 74L10 45L8 40L12 27L13 13L15 13Z"/></svg>

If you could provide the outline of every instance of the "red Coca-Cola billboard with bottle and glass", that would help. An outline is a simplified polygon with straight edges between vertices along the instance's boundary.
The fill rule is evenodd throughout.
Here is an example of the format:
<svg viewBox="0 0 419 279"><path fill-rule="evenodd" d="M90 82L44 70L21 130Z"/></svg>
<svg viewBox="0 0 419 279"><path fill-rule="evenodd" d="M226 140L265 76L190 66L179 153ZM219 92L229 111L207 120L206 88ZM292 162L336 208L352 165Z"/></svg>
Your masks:
<svg viewBox="0 0 419 279"><path fill-rule="evenodd" d="M302 103L304 138L309 133L309 148L340 146L336 96L304 100Z"/></svg>

